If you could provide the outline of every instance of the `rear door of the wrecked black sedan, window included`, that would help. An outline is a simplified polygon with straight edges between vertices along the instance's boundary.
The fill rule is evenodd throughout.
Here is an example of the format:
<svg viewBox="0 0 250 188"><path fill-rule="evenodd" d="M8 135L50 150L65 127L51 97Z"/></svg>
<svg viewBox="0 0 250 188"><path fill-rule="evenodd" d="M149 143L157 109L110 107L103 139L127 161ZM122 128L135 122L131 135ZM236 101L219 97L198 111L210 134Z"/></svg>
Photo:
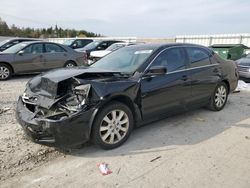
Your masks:
<svg viewBox="0 0 250 188"><path fill-rule="evenodd" d="M185 49L189 59L188 74L191 76L192 105L206 103L220 79L219 65L211 63L211 54L204 48Z"/></svg>

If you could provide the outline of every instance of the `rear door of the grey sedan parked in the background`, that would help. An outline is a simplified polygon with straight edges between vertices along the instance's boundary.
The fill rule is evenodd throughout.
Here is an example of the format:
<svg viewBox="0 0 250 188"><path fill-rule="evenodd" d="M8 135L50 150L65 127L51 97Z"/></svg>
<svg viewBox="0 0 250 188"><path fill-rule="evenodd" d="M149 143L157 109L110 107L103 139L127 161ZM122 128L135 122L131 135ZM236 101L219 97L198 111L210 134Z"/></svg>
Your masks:
<svg viewBox="0 0 250 188"><path fill-rule="evenodd" d="M45 43L44 70L63 67L68 59L67 51L53 43Z"/></svg>

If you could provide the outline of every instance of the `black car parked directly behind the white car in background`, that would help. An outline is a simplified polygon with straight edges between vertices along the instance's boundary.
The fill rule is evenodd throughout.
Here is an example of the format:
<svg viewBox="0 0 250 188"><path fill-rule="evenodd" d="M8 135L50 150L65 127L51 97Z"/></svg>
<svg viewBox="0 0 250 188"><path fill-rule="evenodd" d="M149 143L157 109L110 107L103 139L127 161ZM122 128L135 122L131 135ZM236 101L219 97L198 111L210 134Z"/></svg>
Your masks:
<svg viewBox="0 0 250 188"><path fill-rule="evenodd" d="M89 58L90 52L98 51L98 50L106 50L110 45L112 45L114 43L117 43L117 42L122 42L122 41L117 41L117 40L97 40L97 41L89 43L84 48L77 49L76 51L86 52L87 53L87 58Z"/></svg>

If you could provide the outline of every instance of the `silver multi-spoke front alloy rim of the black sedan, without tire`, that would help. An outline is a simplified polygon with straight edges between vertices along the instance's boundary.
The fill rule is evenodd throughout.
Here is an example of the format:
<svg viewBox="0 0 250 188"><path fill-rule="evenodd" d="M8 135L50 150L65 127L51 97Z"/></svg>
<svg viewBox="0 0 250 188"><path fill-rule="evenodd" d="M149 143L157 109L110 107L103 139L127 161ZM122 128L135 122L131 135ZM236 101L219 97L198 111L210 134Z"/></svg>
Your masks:
<svg viewBox="0 0 250 188"><path fill-rule="evenodd" d="M128 133L129 118L123 110L113 110L104 116L99 134L106 144L116 144Z"/></svg>

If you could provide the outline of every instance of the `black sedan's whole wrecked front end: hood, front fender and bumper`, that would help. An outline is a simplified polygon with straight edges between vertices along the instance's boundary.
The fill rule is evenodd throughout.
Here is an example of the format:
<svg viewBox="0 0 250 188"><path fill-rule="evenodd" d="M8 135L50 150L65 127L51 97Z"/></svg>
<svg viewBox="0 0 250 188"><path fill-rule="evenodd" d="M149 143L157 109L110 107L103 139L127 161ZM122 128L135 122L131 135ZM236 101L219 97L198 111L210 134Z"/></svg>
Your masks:
<svg viewBox="0 0 250 188"><path fill-rule="evenodd" d="M117 72L58 69L27 83L16 116L35 142L79 145L89 140L94 118L107 101L121 94L135 101L137 93L138 82Z"/></svg>

